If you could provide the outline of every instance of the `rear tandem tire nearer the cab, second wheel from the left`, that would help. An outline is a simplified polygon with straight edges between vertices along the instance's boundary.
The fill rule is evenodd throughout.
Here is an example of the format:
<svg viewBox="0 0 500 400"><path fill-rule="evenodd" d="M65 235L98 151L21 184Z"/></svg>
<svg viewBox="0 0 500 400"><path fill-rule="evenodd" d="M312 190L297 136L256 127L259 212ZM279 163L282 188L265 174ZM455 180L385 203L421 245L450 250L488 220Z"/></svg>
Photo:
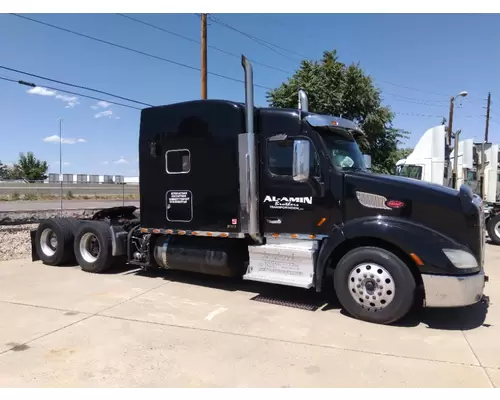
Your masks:
<svg viewBox="0 0 500 400"><path fill-rule="evenodd" d="M85 272L98 274L113 265L109 224L102 221L82 222L78 227L74 252L78 265Z"/></svg>

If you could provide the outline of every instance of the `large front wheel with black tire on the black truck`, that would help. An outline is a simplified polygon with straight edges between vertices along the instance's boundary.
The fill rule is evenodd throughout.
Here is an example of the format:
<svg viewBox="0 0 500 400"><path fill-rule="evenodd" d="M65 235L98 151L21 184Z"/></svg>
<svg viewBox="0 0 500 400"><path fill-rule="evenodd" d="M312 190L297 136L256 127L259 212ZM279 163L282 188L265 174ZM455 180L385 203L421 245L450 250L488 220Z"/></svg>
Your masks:
<svg viewBox="0 0 500 400"><path fill-rule="evenodd" d="M408 266L378 247L359 247L345 254L335 268L334 286L349 314L377 324L403 318L415 302L416 283Z"/></svg>

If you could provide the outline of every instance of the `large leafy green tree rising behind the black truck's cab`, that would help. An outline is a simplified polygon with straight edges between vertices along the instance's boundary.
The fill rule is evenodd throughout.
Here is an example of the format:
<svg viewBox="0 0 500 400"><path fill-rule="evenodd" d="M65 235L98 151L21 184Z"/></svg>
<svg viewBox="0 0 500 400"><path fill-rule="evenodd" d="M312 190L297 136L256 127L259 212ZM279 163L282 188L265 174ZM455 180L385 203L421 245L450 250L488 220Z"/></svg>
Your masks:
<svg viewBox="0 0 500 400"><path fill-rule="evenodd" d="M310 111L341 116L363 128L366 138L359 146L371 155L375 172L394 171L397 146L408 132L393 127L394 114L382 105L380 90L359 64L346 66L335 50L325 51L320 61L302 61L287 82L267 93L268 102L272 107L297 108L301 88L309 96Z"/></svg>

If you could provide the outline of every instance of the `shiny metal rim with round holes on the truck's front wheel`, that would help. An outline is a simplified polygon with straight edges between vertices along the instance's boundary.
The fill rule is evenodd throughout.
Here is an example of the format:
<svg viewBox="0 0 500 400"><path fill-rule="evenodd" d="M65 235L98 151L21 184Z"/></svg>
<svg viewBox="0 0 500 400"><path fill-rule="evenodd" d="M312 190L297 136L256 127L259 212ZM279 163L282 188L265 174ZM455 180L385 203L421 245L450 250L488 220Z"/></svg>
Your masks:
<svg viewBox="0 0 500 400"><path fill-rule="evenodd" d="M394 300L396 285L384 267L374 263L359 264L348 278L349 293L362 308L377 312Z"/></svg>

